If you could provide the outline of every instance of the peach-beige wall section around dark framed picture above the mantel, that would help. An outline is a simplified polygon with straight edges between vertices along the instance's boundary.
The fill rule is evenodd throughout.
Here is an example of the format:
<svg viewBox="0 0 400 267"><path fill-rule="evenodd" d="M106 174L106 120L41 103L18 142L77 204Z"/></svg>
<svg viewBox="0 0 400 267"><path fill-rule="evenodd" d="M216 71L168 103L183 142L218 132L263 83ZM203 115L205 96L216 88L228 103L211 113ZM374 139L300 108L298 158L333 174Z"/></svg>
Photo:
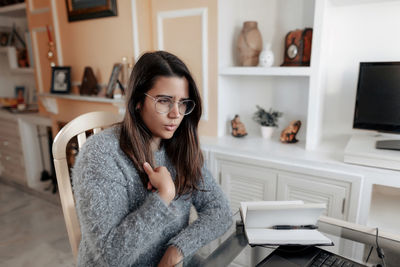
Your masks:
<svg viewBox="0 0 400 267"><path fill-rule="evenodd" d="M55 1L63 65L71 66L72 82L81 82L92 67L97 81L107 84L114 63L133 59L131 1L118 0L118 16L68 22L65 1Z"/></svg>

